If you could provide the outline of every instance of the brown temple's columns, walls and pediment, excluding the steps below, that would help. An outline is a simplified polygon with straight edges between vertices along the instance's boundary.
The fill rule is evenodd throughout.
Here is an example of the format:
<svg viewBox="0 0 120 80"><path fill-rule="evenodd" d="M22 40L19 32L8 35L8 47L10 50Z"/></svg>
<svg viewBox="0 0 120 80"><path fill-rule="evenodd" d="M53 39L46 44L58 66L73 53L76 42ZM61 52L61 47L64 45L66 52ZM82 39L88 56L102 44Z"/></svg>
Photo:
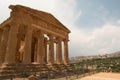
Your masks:
<svg viewBox="0 0 120 80"><path fill-rule="evenodd" d="M11 5L9 8L12 10L10 18L0 24L0 64L37 62L52 65L54 64L54 49L56 49L56 63L62 64L62 41L59 39L54 48L56 37L67 39L64 42L64 63L68 64L69 29L50 13L21 5ZM34 32L38 32L38 37L34 35ZM49 42L44 34L48 35ZM35 43L33 43L33 38L36 38ZM22 41L24 47L20 51ZM49 43L49 49L47 43Z"/></svg>

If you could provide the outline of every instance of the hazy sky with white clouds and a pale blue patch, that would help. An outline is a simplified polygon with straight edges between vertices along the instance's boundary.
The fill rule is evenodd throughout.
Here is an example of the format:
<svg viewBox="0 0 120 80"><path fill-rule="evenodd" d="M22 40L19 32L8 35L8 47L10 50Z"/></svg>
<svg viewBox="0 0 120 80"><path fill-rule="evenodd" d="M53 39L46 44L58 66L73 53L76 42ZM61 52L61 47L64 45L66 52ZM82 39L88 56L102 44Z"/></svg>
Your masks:
<svg viewBox="0 0 120 80"><path fill-rule="evenodd" d="M0 23L10 4L53 14L71 30L70 56L120 51L120 0L0 0Z"/></svg>

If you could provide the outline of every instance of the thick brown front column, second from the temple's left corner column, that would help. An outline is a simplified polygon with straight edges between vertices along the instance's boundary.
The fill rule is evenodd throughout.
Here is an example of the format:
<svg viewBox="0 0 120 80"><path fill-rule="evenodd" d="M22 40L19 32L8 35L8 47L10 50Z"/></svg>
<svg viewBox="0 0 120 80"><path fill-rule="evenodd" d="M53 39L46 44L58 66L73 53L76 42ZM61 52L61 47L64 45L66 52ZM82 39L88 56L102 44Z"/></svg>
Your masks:
<svg viewBox="0 0 120 80"><path fill-rule="evenodd" d="M32 45L32 28L31 26L27 27L25 34L25 47L23 53L23 63L29 64L31 63L31 45Z"/></svg>

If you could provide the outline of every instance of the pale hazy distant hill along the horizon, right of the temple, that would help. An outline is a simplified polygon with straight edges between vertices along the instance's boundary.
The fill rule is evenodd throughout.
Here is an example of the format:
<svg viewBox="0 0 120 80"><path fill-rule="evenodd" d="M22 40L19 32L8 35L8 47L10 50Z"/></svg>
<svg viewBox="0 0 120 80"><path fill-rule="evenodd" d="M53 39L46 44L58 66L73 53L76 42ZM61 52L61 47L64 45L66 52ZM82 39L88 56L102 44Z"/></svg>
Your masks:
<svg viewBox="0 0 120 80"><path fill-rule="evenodd" d="M91 55L91 56L75 56L70 58L70 62L79 62L83 60L91 60L91 59L103 59L103 58L110 58L110 57L120 57L120 51L104 54L104 55Z"/></svg>

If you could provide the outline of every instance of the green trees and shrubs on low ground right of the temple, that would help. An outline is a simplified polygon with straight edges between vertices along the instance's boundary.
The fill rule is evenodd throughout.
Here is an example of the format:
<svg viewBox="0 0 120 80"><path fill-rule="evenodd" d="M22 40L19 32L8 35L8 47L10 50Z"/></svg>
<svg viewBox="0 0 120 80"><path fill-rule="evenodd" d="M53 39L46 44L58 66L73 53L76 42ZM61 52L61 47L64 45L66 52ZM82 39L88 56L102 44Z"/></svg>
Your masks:
<svg viewBox="0 0 120 80"><path fill-rule="evenodd" d="M84 72L104 71L120 73L120 57L83 60L72 64L75 66L76 71L84 70Z"/></svg>

